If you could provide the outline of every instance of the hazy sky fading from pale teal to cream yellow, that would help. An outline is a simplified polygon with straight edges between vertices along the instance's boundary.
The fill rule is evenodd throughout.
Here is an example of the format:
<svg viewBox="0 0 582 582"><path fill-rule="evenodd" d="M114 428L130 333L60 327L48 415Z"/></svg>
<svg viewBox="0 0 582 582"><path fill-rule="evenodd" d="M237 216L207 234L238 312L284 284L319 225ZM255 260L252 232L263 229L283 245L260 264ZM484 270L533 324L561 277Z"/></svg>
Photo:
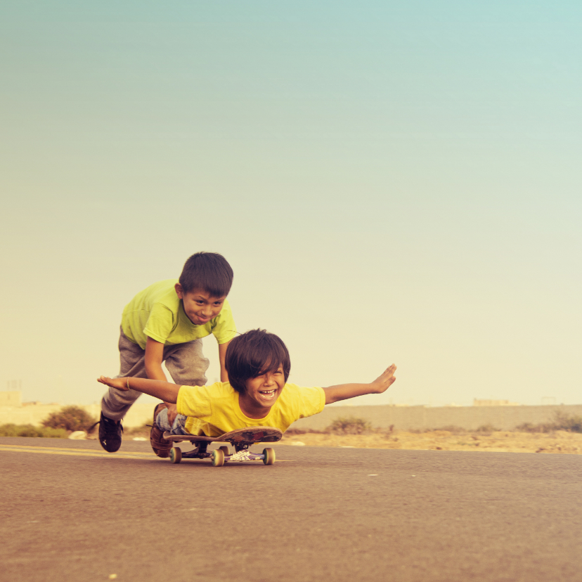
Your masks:
<svg viewBox="0 0 582 582"><path fill-rule="evenodd" d="M0 389L93 403L200 250L290 382L582 403L582 5L0 6ZM216 342L205 339L217 379Z"/></svg>

